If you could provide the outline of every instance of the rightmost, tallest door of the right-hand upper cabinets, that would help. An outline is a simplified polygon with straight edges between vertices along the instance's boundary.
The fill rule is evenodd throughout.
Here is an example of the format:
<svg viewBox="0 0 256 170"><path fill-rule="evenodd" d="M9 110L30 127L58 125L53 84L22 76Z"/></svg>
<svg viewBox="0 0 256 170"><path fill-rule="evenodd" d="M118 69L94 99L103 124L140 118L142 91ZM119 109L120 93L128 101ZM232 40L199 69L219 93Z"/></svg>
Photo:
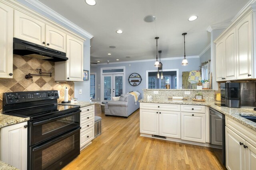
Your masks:
<svg viewBox="0 0 256 170"><path fill-rule="evenodd" d="M237 79L252 78L252 15L248 15L236 26Z"/></svg>

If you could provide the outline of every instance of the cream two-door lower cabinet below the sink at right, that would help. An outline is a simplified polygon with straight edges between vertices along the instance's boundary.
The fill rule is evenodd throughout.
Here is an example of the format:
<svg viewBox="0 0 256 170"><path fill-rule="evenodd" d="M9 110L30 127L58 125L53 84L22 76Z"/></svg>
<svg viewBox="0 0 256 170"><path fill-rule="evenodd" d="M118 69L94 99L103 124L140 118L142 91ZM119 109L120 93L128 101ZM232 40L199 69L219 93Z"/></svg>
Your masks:
<svg viewBox="0 0 256 170"><path fill-rule="evenodd" d="M226 168L228 170L256 170L256 132L243 126L226 117Z"/></svg>

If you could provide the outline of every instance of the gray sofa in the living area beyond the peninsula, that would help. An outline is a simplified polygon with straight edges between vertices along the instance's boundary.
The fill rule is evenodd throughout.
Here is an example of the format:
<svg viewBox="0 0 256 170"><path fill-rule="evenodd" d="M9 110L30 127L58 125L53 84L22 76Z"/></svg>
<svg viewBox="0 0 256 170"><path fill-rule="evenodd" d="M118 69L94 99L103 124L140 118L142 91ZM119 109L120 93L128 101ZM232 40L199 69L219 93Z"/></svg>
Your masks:
<svg viewBox="0 0 256 170"><path fill-rule="evenodd" d="M141 98L142 97L140 94L138 96L138 101ZM122 94L118 101L111 100L105 105L105 115L122 116L128 118L129 115L140 107L140 103L138 101L135 104L134 96L131 94Z"/></svg>

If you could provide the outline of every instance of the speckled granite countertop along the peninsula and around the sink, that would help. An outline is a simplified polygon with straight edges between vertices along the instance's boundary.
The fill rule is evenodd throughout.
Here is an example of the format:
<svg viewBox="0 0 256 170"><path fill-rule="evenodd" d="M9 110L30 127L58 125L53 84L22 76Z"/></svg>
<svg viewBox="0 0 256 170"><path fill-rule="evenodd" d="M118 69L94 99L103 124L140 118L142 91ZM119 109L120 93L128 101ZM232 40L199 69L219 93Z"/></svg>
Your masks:
<svg viewBox="0 0 256 170"><path fill-rule="evenodd" d="M240 116L240 115L256 116L256 111L254 111L253 108L222 107L222 106L215 105L215 103L220 103L220 102L217 102L217 101L196 102L196 101L193 101L193 100L168 100L168 99L158 99L158 98L147 100L147 99L144 98L142 100L139 100L139 102L209 106L209 107L219 111L220 113L223 113L224 115L238 121L239 123L245 125L246 127L256 131L256 123Z"/></svg>

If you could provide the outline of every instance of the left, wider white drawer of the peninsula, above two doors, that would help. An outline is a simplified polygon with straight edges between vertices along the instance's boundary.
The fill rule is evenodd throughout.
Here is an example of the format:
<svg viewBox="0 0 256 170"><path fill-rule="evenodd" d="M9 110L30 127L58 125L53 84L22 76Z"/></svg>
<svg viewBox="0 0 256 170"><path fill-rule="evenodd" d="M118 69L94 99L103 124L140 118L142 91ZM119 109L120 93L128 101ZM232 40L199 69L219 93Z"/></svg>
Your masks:
<svg viewBox="0 0 256 170"><path fill-rule="evenodd" d="M140 103L141 109L180 111L180 104Z"/></svg>

